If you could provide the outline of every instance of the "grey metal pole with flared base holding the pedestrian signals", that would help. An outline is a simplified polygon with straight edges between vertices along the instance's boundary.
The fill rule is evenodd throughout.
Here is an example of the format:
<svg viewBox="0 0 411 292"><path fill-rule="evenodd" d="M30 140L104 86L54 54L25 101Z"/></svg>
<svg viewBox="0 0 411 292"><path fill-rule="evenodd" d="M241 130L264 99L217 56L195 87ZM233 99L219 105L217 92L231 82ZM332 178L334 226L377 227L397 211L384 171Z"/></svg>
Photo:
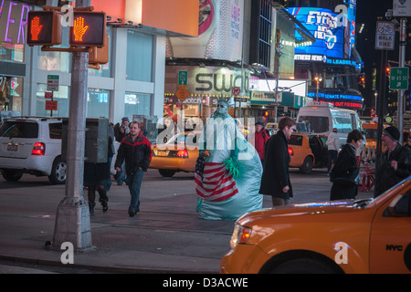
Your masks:
<svg viewBox="0 0 411 292"><path fill-rule="evenodd" d="M77 0L88 6L90 0ZM84 145L89 53L72 53L68 119L67 180L65 197L58 204L53 245L68 242L76 250L93 248L89 205L83 198Z"/></svg>

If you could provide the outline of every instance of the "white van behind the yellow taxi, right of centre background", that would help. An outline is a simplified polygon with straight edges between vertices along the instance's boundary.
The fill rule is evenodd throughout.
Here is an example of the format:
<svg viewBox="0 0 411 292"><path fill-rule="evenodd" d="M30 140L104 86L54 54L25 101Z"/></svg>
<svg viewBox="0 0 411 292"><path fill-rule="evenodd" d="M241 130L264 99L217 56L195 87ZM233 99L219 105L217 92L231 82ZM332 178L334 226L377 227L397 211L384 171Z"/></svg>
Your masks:
<svg viewBox="0 0 411 292"><path fill-rule="evenodd" d="M309 102L299 110L298 123L304 123L307 131L328 136L332 128L337 128L340 144L345 144L348 133L361 130L360 117L355 110L334 108L328 102Z"/></svg>

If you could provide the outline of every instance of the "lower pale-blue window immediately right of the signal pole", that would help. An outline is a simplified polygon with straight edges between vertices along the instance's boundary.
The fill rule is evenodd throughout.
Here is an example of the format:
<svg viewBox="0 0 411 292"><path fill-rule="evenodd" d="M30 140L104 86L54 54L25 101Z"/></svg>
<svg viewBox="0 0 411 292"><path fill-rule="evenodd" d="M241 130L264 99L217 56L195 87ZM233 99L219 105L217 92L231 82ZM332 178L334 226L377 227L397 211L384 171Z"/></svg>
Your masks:
<svg viewBox="0 0 411 292"><path fill-rule="evenodd" d="M110 91L104 89L89 89L87 93L87 117L109 118Z"/></svg>

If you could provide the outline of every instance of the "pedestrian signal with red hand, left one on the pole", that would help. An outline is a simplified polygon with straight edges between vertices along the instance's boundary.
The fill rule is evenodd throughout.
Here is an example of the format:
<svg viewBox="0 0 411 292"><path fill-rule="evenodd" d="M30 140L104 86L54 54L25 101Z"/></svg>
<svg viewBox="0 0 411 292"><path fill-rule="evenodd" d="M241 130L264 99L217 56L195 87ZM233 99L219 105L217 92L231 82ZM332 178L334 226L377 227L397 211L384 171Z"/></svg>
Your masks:
<svg viewBox="0 0 411 292"><path fill-rule="evenodd" d="M27 15L27 45L54 46L61 44L61 17L56 11L29 11Z"/></svg>

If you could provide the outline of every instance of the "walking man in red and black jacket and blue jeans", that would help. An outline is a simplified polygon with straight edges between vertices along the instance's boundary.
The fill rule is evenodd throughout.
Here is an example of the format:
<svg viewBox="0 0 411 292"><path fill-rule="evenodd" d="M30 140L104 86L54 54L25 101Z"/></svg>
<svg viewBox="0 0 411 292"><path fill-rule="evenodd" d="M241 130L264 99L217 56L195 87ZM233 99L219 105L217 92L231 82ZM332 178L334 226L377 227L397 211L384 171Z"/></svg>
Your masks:
<svg viewBox="0 0 411 292"><path fill-rule="evenodd" d="M126 183L129 186L131 194L129 206L130 217L140 211L142 177L144 172L147 172L151 160L152 146L150 141L142 136L139 123L132 121L130 124L130 134L122 139L114 164L116 171L121 172L121 165L125 162L125 172L127 174Z"/></svg>

